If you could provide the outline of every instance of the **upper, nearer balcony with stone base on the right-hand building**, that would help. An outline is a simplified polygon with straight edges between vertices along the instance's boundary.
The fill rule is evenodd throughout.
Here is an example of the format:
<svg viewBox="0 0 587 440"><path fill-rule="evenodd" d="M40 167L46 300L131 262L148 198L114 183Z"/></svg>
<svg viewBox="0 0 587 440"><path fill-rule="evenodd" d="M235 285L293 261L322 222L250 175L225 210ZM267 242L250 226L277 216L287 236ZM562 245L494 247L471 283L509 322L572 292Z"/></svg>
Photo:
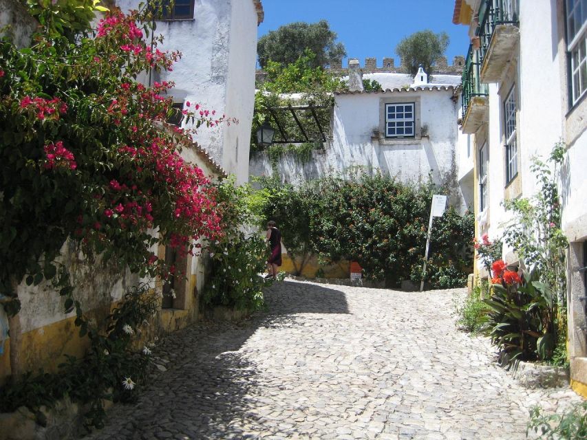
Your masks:
<svg viewBox="0 0 587 440"><path fill-rule="evenodd" d="M497 83L520 39L519 0L485 0L479 9L480 78Z"/></svg>

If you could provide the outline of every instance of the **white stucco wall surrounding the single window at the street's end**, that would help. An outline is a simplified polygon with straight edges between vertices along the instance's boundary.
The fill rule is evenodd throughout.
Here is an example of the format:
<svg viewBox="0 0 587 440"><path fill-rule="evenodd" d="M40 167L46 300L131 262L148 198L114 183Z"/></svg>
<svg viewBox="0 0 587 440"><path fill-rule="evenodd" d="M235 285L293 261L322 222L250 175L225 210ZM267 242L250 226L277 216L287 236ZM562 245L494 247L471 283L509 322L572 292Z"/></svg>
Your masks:
<svg viewBox="0 0 587 440"><path fill-rule="evenodd" d="M314 151L312 161L301 164L290 155L279 161L279 174L292 183L315 179L352 166L398 177L401 181L425 181L431 173L434 183L456 180L456 123L460 104L451 100L453 91L425 90L370 94L341 94L335 97L332 118L332 142L324 151ZM420 120L428 127L428 137L397 140L381 144L372 140L378 129L381 98L419 98ZM270 161L264 153L250 160L250 175L270 175ZM458 195L461 205L462 196Z"/></svg>

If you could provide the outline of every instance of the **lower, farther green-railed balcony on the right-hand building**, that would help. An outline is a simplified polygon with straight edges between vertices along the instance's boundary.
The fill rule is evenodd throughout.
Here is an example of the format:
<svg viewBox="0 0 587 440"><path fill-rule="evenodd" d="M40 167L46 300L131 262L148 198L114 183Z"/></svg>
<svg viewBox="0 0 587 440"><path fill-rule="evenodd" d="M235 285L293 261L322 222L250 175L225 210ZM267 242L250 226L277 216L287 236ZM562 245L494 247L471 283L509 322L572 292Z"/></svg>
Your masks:
<svg viewBox="0 0 587 440"><path fill-rule="evenodd" d="M489 87L479 80L479 51L469 46L465 69L462 71L462 132L476 133L487 122Z"/></svg>

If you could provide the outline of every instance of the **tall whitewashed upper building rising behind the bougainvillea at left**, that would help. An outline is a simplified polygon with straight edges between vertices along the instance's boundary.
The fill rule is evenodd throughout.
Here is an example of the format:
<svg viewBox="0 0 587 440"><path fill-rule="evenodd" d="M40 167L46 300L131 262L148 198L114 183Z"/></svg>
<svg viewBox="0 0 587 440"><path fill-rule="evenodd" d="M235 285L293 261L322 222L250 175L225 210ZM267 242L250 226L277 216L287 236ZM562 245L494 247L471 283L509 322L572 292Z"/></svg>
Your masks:
<svg viewBox="0 0 587 440"><path fill-rule="evenodd" d="M118 0L122 10L138 8L139 0ZM237 183L248 180L250 125L255 101L257 26L263 21L261 0L175 0L157 21L163 50L182 58L172 72L148 80L173 81L173 100L201 104L237 124L220 124L198 132L195 139ZM192 107L193 109L193 107Z"/></svg>

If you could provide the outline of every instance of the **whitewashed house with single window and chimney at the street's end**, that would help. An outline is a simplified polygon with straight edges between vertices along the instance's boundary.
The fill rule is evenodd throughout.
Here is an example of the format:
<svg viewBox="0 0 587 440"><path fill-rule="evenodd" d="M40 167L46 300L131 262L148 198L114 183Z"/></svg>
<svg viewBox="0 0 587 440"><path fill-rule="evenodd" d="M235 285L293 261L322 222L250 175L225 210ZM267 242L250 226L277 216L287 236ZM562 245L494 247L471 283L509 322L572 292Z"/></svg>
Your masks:
<svg viewBox="0 0 587 440"><path fill-rule="evenodd" d="M376 80L384 91L363 90L362 79ZM430 176L434 184L450 188L451 204L472 209L473 199L464 197L458 185L460 79L435 74L428 82L425 72L415 78L395 72L362 74L359 62L350 60L350 91L334 94L323 149L312 151L306 161L283 155L277 173L294 184L357 167L405 182ZM273 173L266 153L252 155L249 173Z"/></svg>

